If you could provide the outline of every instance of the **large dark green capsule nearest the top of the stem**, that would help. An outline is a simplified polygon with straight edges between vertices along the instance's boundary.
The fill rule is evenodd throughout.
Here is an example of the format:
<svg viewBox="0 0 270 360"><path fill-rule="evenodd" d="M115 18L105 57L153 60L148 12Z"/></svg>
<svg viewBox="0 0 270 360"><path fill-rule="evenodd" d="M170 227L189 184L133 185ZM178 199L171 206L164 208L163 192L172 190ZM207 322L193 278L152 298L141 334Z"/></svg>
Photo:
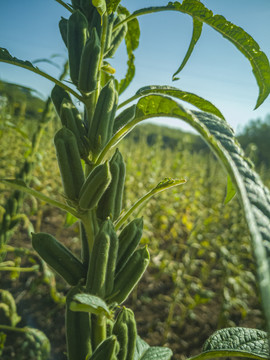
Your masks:
<svg viewBox="0 0 270 360"><path fill-rule="evenodd" d="M80 10L75 10L68 19L67 25L69 70L71 80L75 85L78 84L81 54L87 37L87 19Z"/></svg>

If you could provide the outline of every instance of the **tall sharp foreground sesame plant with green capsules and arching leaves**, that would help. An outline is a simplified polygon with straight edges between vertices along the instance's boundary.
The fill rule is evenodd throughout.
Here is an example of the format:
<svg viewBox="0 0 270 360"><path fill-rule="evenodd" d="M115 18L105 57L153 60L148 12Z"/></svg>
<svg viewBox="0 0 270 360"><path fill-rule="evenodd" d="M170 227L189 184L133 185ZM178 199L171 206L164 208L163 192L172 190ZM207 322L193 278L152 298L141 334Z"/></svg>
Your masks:
<svg viewBox="0 0 270 360"><path fill-rule="evenodd" d="M69 360L167 360L170 349L150 347L137 334L131 309L123 306L149 261L140 246L143 219L136 210L157 193L184 185L185 179L165 178L151 191L122 209L125 163L117 143L143 120L173 117L191 125L209 145L228 174L227 198L235 193L242 203L252 239L266 330L270 330L270 193L252 169L221 112L198 95L170 86L145 86L130 99L119 98L135 74L134 50L139 44L140 16L177 11L193 18L190 46L173 78L183 70L206 24L229 40L250 62L259 87L256 107L270 92L270 66L255 40L243 29L213 15L198 0L169 2L130 14L119 0L56 0L69 11L59 30L69 61L69 85L0 49L0 60L33 71L55 83L51 93L62 127L54 144L63 184L63 201L45 196L21 180L4 184L46 201L80 223L81 257L77 258L54 236L33 233L40 257L70 285L66 297L66 341ZM128 54L121 81L110 65L120 43ZM179 100L196 106L191 111ZM75 106L78 101L83 112ZM242 356L269 357L268 333L248 328L226 328L214 333L196 359Z"/></svg>

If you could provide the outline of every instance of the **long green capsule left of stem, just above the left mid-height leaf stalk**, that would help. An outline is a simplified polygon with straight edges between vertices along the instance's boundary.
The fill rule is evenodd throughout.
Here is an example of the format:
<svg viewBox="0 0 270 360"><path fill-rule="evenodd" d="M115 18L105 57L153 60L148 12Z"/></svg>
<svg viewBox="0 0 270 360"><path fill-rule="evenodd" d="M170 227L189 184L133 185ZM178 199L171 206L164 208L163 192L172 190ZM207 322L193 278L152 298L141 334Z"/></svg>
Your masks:
<svg viewBox="0 0 270 360"><path fill-rule="evenodd" d="M63 127L55 134L54 144L65 194L68 199L77 201L84 183L84 173L76 137Z"/></svg>

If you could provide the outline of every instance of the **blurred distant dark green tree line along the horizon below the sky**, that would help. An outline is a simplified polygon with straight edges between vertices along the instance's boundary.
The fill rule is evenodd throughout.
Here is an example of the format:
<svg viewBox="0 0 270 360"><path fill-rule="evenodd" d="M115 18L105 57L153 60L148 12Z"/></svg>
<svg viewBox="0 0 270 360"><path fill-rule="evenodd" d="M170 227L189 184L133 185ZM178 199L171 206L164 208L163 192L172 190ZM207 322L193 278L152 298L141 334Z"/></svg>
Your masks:
<svg viewBox="0 0 270 360"><path fill-rule="evenodd" d="M30 88L0 81L1 106L12 116L39 120L45 102L36 96ZM207 153L208 146L200 136L180 129L154 125L152 123L137 126L128 135L136 143L146 142L149 146L159 146L172 150ZM245 153L256 166L270 168L270 114L262 119L250 120L238 135L238 141Z"/></svg>

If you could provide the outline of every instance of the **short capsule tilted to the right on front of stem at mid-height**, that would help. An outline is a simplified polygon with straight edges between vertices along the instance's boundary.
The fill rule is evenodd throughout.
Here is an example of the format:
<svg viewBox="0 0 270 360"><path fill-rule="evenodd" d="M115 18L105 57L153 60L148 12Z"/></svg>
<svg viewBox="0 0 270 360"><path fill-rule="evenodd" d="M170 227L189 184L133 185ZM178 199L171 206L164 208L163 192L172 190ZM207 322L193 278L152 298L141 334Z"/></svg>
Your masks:
<svg viewBox="0 0 270 360"><path fill-rule="evenodd" d="M97 206L101 196L111 182L111 173L108 161L94 168L85 180L80 194L79 206L90 210Z"/></svg>

